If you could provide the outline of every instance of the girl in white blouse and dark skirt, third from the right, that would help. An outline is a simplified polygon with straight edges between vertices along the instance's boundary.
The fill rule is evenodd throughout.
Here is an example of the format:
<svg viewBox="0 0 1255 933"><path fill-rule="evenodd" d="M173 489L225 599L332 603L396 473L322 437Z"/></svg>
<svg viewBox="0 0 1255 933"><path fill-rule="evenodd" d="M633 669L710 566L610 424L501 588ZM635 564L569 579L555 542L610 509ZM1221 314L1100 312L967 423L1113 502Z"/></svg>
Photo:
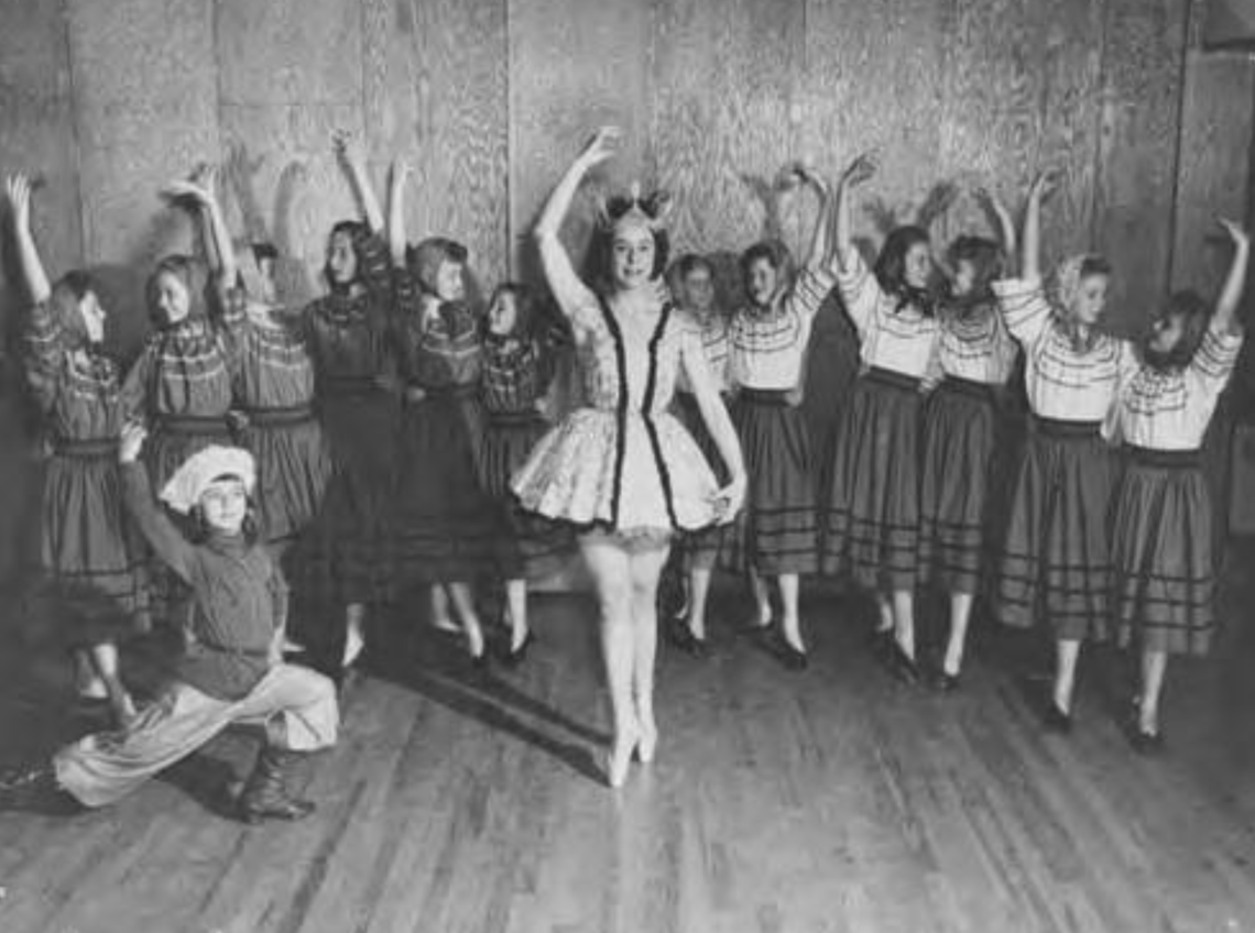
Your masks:
<svg viewBox="0 0 1255 933"><path fill-rule="evenodd" d="M920 469L920 567L950 597L950 635L934 686L953 690L981 581L990 468L999 440L996 394L1018 347L994 298L993 282L1015 250L1010 217L998 206L1005 248L960 236L946 255L949 293L937 316L935 365L941 382L924 409Z"/></svg>

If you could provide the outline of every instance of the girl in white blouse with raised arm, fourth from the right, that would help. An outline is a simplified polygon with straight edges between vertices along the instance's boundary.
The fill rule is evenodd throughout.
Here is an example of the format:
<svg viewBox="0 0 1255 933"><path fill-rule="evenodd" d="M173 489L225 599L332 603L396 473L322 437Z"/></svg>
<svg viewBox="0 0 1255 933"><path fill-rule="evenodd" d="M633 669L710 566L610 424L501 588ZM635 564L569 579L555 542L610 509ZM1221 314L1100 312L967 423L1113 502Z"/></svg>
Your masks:
<svg viewBox="0 0 1255 933"><path fill-rule="evenodd" d="M900 680L915 682L920 409L940 326L929 288L927 231L894 229L871 271L851 240L850 189L875 171L868 157L858 157L836 194L837 282L858 334L863 371L841 415L831 487L821 498L827 509L823 571L850 573L876 593L877 646Z"/></svg>

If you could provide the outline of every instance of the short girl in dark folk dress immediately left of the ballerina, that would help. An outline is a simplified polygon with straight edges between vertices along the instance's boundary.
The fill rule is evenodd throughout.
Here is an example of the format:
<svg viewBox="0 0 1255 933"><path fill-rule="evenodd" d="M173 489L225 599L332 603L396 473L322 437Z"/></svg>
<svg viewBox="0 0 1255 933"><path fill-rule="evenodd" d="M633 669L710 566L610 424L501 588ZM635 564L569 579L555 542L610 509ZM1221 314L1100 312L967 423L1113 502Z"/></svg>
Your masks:
<svg viewBox="0 0 1255 933"><path fill-rule="evenodd" d="M552 331L542 330L536 296L525 285L497 287L488 302L479 401L484 413L479 484L496 507L497 572L506 581L510 647L518 665L535 641L527 625L527 582L558 571L574 549L570 528L518 508L510 479L548 430L542 414L553 375Z"/></svg>

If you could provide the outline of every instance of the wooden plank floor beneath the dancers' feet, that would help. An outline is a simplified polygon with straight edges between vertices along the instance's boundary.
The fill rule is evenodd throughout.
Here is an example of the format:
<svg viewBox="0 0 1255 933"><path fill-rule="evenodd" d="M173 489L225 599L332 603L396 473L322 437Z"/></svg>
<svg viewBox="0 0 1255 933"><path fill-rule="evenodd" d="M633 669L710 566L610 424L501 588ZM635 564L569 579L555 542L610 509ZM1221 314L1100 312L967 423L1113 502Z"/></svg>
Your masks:
<svg viewBox="0 0 1255 933"><path fill-rule="evenodd" d="M729 602L713 657L664 652L658 760L612 791L591 604L537 613L516 675L477 678L434 636L393 646L307 776L305 823L220 815L242 735L105 811L0 815L0 930L1255 930L1240 631L1172 672L1170 751L1147 760L1109 660L1058 737L988 647L961 692L909 690L856 608L820 599L793 675L730 633ZM63 729L46 661L9 661L5 757Z"/></svg>

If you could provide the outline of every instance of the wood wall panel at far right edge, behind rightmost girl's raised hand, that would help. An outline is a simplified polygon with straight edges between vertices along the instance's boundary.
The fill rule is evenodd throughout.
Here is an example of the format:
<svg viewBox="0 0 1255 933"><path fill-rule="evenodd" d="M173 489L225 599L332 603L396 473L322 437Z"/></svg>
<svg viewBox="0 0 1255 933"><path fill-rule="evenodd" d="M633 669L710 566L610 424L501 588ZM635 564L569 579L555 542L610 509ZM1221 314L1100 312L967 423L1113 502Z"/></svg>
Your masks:
<svg viewBox="0 0 1255 933"><path fill-rule="evenodd" d="M1216 217L1241 218L1255 133L1255 61L1191 49L1181 110L1172 287L1211 295L1229 248L1216 240Z"/></svg>

